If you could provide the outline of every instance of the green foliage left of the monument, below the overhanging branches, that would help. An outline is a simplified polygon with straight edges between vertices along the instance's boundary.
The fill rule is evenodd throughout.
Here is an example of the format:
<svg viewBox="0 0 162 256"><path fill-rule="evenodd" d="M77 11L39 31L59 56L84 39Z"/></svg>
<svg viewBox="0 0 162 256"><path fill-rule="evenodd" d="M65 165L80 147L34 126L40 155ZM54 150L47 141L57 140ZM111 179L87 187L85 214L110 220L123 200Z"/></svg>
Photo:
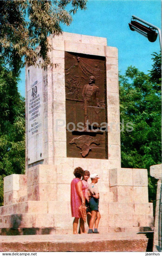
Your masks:
<svg viewBox="0 0 162 256"><path fill-rule="evenodd" d="M17 82L11 71L0 66L0 204L3 177L25 170L25 101Z"/></svg>

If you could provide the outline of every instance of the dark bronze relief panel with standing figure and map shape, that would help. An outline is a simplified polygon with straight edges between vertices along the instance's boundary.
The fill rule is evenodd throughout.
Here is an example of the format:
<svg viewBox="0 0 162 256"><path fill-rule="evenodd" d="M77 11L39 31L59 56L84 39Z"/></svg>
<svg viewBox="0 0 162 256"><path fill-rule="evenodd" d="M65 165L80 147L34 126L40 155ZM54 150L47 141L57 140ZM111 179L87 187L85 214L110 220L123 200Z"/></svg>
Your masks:
<svg viewBox="0 0 162 256"><path fill-rule="evenodd" d="M65 52L67 157L107 159L105 81L105 57Z"/></svg>

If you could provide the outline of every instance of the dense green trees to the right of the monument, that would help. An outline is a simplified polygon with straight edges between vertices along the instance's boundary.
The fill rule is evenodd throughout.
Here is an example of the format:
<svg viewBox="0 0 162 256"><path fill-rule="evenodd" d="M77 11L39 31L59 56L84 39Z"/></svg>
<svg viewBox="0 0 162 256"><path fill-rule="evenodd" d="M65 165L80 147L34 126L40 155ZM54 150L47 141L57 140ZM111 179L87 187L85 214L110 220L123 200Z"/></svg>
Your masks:
<svg viewBox="0 0 162 256"><path fill-rule="evenodd" d="M133 131L121 132L122 167L148 170L150 201L156 195L150 166L161 163L161 55L153 56L148 75L132 66L119 75L120 118L133 126Z"/></svg>

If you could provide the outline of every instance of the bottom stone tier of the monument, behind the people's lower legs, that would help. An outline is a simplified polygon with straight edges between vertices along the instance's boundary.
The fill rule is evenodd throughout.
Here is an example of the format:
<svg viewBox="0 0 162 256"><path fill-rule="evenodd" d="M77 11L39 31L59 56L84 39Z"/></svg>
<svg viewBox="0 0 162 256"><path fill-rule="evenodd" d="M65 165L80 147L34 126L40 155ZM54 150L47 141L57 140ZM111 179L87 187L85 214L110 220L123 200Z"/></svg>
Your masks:
<svg viewBox="0 0 162 256"><path fill-rule="evenodd" d="M132 214L128 216L124 215L102 215L99 223L99 228L106 229L107 232L112 231L125 231L126 228L137 228L140 231L140 227L153 227L153 223L150 222L150 215L138 216L138 218L144 218L144 221L140 223L136 220L136 216ZM64 217L65 218L65 217ZM134 219L135 218L135 219ZM43 223L42 223L43 219ZM4 215L0 217L0 229L3 228L61 228L62 230L70 230L72 227L73 218L68 217L69 221L63 223L62 219L58 224L55 224L57 216L54 214L44 213L44 214L11 214ZM85 225L88 228L86 223Z"/></svg>

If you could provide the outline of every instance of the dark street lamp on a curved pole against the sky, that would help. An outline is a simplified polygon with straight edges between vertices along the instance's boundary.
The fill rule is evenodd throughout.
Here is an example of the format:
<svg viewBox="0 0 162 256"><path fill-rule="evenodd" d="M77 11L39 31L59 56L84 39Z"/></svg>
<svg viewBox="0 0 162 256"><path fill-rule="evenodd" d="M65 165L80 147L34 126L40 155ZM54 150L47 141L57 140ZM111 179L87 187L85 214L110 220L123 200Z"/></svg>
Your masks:
<svg viewBox="0 0 162 256"><path fill-rule="evenodd" d="M136 20L138 20L140 22L137 22ZM145 26L142 23L144 23L148 26ZM129 23L129 28L132 31L136 31L136 32L140 33L144 37L147 37L147 39L150 42L155 42L157 39L157 35L159 34L160 49L161 49L161 30L157 26L154 26L154 25L150 24L149 22L132 15L131 22Z"/></svg>

